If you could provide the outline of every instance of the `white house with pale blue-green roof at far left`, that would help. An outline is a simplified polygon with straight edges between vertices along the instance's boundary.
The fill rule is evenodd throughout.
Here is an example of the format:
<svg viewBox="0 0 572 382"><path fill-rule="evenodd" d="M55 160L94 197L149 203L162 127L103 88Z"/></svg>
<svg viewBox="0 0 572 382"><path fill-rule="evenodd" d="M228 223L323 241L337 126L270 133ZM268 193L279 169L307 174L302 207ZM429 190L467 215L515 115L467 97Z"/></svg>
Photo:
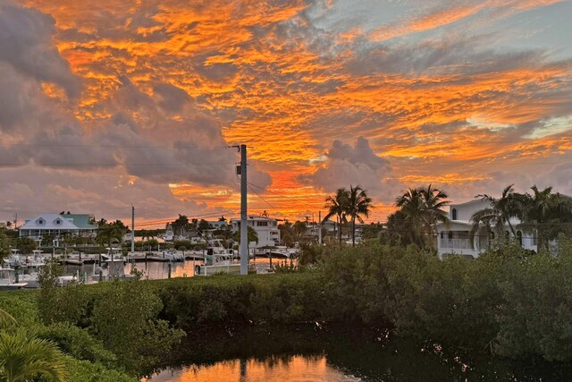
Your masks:
<svg viewBox="0 0 572 382"><path fill-rule="evenodd" d="M55 236L55 245L60 245L64 233L72 236L96 237L97 225L92 224L94 218L86 214L41 214L26 219L20 227L20 236L29 237L37 242L42 241L46 234Z"/></svg>

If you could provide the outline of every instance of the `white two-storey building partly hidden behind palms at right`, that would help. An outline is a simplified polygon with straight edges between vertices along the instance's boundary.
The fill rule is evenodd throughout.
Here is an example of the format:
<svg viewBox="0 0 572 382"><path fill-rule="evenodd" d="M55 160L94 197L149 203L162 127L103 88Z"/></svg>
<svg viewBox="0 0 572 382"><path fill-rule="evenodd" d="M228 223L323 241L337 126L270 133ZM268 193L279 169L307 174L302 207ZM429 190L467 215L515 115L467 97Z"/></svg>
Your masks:
<svg viewBox="0 0 572 382"><path fill-rule="evenodd" d="M477 258L480 253L486 250L488 242L494 239L495 233L490 233L489 238L479 237L478 234L475 234L473 243L471 243L470 238L473 226L473 223L470 221L471 216L484 208L491 208L491 205L482 199L450 205L450 224L437 224L437 252L440 258L446 254L470 255ZM523 248L526 250L537 250L536 236L534 234L523 233L521 230L518 230L517 225L520 224L520 221L517 218L510 219L510 224L515 228L517 240ZM507 237L514 237L510 232L508 224L503 227L503 232Z"/></svg>

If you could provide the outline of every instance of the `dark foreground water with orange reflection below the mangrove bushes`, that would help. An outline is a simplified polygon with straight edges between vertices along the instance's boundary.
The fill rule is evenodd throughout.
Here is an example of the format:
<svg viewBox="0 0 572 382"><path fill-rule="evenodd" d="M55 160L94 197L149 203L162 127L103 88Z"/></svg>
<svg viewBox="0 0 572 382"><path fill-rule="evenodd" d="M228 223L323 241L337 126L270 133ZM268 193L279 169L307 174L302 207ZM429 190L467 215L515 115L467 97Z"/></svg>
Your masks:
<svg viewBox="0 0 572 382"><path fill-rule="evenodd" d="M148 382L567 381L572 369L448 353L383 330L227 327L189 334Z"/></svg>

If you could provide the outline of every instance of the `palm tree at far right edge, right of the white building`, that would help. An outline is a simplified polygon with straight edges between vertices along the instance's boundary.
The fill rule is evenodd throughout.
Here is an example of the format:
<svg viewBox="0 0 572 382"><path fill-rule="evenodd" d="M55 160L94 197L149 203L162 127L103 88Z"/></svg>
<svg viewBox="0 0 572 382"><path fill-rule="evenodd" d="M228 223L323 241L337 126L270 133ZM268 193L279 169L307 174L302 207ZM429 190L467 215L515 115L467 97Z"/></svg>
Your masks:
<svg viewBox="0 0 572 382"><path fill-rule="evenodd" d="M538 249L548 249L548 243L559 233L572 231L572 199L553 193L552 187L543 191L534 185L532 193L522 196L518 228L526 233L537 235Z"/></svg>

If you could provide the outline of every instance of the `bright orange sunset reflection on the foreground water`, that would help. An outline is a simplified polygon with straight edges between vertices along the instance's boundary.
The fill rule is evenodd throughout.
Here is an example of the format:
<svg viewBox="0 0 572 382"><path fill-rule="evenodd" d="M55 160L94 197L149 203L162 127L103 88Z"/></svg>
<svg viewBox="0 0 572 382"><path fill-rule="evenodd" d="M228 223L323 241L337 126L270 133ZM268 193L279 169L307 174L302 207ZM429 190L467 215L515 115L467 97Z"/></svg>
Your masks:
<svg viewBox="0 0 572 382"><path fill-rule="evenodd" d="M325 356L292 356L266 361L221 361L214 365L191 365L180 370L164 370L149 382L273 382L273 381L358 381L327 364ZM143 379L147 381L147 379Z"/></svg>

